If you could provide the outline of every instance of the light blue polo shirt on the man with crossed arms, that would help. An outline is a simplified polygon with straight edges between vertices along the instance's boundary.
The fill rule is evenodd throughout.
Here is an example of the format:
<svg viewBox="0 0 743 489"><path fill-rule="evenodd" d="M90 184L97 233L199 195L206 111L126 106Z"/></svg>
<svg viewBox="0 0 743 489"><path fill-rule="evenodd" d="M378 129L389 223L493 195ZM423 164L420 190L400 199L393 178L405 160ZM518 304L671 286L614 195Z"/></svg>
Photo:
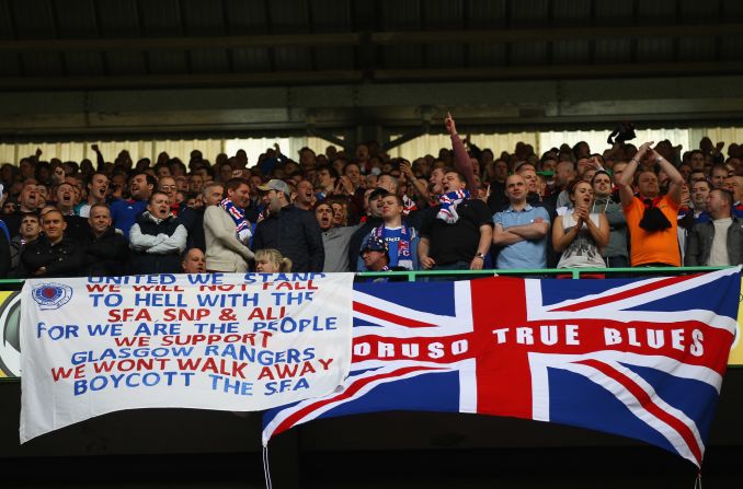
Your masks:
<svg viewBox="0 0 743 489"><path fill-rule="evenodd" d="M503 212L493 216L493 222L507 230L514 225L531 224L537 218L544 219L549 224L549 213L544 207L531 207L527 203L521 211L508 206ZM502 269L547 268L547 236L537 241L519 241L504 247L498 255L496 265Z"/></svg>

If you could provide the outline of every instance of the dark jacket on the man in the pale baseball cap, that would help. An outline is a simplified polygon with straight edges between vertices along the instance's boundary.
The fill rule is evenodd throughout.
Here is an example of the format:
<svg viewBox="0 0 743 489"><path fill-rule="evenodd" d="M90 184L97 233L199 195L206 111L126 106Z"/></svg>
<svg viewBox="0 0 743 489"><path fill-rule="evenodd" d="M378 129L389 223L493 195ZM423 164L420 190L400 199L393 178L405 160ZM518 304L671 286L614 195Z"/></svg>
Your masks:
<svg viewBox="0 0 743 489"><path fill-rule="evenodd" d="M325 249L315 213L286 206L258 223L253 251L276 248L292 259L292 271L322 271Z"/></svg>

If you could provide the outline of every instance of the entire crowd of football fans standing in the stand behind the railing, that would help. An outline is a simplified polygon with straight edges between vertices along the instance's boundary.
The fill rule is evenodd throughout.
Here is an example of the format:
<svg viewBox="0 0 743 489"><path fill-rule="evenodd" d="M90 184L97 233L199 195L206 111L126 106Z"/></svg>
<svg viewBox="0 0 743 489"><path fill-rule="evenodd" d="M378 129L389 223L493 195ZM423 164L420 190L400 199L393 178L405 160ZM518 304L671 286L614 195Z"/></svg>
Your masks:
<svg viewBox="0 0 743 489"><path fill-rule="evenodd" d="M445 127L451 148L413 162L375 142L255 165L37 151L0 167L0 277L743 263L743 145L633 145L625 128L602 152L496 154Z"/></svg>

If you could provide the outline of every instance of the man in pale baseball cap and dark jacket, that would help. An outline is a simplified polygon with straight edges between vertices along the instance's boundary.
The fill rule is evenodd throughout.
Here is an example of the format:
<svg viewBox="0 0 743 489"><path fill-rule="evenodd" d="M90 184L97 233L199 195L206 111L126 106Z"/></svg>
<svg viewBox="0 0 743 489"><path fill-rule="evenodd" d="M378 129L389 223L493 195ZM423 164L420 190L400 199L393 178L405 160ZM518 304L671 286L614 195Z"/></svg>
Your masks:
<svg viewBox="0 0 743 489"><path fill-rule="evenodd" d="M293 271L322 271L325 252L317 219L290 205L292 190L285 182L272 179L258 189L267 216L255 228L253 249L278 249L294 264Z"/></svg>

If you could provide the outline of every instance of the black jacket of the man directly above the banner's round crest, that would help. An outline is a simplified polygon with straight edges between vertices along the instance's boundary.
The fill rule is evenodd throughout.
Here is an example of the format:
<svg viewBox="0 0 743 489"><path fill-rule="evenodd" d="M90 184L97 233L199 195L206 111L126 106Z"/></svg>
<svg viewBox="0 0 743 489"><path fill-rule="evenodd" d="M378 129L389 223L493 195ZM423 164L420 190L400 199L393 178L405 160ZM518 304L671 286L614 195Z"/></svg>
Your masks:
<svg viewBox="0 0 743 489"><path fill-rule="evenodd" d="M85 255L80 242L62 237L62 241L53 245L46 236L38 236L27 243L21 253L21 276L27 278L39 277L82 277L84 275ZM36 275L35 271L45 267L46 272Z"/></svg>

